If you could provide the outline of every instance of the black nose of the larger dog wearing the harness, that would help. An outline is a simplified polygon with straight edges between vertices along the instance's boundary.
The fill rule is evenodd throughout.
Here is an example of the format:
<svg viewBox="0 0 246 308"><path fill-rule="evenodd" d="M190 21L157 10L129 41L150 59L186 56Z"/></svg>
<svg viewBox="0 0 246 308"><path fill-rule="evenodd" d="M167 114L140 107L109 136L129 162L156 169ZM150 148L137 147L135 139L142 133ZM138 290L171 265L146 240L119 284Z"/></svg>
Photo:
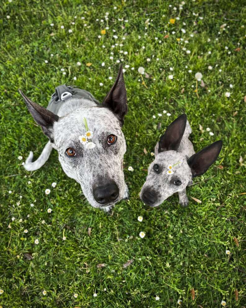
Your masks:
<svg viewBox="0 0 246 308"><path fill-rule="evenodd" d="M103 183L103 181L102 181ZM93 187L93 196L100 204L112 203L119 196L119 188L115 182L107 182L98 184Z"/></svg>

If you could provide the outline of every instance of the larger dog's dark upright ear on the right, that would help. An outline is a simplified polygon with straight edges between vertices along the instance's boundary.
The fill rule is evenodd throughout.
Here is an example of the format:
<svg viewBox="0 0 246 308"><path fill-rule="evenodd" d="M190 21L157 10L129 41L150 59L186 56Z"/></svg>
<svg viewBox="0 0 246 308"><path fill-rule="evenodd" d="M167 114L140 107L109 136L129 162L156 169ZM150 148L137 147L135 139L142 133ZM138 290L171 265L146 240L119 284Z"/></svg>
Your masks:
<svg viewBox="0 0 246 308"><path fill-rule="evenodd" d="M120 66L116 81L103 100L102 105L110 109L117 116L121 122L121 126L124 124L124 116L127 113L127 103L122 65Z"/></svg>

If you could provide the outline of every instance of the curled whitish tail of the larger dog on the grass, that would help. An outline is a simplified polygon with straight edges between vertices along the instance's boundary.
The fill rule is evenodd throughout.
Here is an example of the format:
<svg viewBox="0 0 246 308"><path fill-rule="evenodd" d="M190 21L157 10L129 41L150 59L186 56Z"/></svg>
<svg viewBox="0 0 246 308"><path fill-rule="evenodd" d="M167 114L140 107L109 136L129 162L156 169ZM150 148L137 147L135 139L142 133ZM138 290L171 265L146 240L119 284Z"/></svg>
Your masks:
<svg viewBox="0 0 246 308"><path fill-rule="evenodd" d="M45 164L45 162L48 160L50 153L52 151L52 148L53 148L52 143L50 141L47 142L45 147L43 148L41 155L36 161L32 161L33 152L31 151L25 161L25 165L24 165L25 170L34 171L34 170L41 168Z"/></svg>

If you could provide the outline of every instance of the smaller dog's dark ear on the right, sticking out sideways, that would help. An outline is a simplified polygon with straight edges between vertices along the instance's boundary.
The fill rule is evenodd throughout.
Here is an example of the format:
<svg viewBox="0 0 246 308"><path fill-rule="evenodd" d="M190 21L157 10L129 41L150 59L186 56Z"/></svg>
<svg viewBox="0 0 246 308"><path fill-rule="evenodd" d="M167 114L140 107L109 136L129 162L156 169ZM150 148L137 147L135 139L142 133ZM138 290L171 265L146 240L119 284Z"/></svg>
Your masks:
<svg viewBox="0 0 246 308"><path fill-rule="evenodd" d="M188 165L190 166L192 177L202 175L207 169L216 161L220 154L222 147L222 141L218 140L208 147L204 147L201 151L192 155L188 159Z"/></svg>

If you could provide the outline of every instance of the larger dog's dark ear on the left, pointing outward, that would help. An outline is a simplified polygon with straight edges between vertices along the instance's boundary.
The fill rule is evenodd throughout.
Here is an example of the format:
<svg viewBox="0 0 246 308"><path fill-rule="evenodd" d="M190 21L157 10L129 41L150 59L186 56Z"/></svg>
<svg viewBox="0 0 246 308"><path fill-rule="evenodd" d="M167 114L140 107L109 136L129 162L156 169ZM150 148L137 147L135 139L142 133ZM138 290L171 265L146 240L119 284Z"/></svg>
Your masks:
<svg viewBox="0 0 246 308"><path fill-rule="evenodd" d="M30 111L30 114L33 116L34 120L41 126L43 133L50 138L52 142L52 126L54 122L59 120L58 115L53 114L53 112L47 110L39 106L38 104L34 103L25 94L19 89L21 96L25 100L25 104Z"/></svg>

